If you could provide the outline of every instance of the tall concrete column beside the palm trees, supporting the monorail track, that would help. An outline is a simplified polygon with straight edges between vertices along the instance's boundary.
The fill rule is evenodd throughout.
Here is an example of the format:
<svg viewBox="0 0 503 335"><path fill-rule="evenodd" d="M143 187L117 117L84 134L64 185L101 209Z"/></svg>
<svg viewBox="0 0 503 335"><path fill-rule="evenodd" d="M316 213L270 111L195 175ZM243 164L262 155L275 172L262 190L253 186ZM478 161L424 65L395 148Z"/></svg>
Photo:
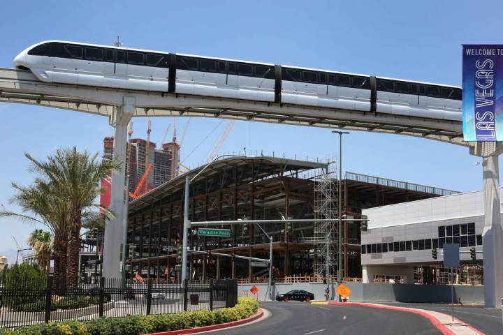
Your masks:
<svg viewBox="0 0 503 335"><path fill-rule="evenodd" d="M121 243L126 234L124 225L124 181L126 180L126 128L134 113L134 98L124 97L124 105L118 106L112 115L110 124L115 128L113 158L122 161L121 167L112 173L112 190L110 192L110 209L115 218L105 223L105 241L103 250L103 276L105 278L122 278L120 259Z"/></svg>

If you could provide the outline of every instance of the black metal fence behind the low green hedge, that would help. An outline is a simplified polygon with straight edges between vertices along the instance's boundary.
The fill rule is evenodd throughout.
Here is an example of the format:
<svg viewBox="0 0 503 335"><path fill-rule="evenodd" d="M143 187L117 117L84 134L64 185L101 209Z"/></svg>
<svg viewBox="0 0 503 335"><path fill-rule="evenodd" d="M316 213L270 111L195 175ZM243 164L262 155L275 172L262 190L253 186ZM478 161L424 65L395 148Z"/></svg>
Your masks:
<svg viewBox="0 0 503 335"><path fill-rule="evenodd" d="M57 320L179 313L233 307L238 281L206 284L143 283L100 278L78 288L57 288L52 276L37 281L0 281L0 327L20 327Z"/></svg>

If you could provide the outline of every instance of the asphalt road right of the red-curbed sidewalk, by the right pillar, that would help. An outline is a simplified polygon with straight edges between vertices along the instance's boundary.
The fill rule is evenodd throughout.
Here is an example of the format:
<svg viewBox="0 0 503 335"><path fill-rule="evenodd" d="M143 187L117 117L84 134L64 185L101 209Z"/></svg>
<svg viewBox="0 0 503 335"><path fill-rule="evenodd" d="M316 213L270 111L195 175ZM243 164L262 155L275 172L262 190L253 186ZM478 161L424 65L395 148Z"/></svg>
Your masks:
<svg viewBox="0 0 503 335"><path fill-rule="evenodd" d="M392 306L429 309L451 315L451 305L447 304L402 304L390 303ZM454 306L454 317L472 325L486 335L503 334L503 310L500 308L486 309L482 306Z"/></svg>

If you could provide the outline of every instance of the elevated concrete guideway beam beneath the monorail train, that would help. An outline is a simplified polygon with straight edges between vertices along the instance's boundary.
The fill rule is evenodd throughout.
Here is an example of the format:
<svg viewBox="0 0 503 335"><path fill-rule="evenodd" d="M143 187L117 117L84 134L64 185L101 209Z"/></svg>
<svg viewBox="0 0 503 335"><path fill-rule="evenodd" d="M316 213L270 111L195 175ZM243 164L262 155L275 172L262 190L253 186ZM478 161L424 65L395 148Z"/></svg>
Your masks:
<svg viewBox="0 0 503 335"><path fill-rule="evenodd" d="M47 83L38 80L29 70L0 68L0 102L41 105L112 117L114 107L123 104L124 96L135 98L132 117L220 117L411 135L465 145L465 142L462 142L461 121L189 94L163 94L156 91Z"/></svg>

